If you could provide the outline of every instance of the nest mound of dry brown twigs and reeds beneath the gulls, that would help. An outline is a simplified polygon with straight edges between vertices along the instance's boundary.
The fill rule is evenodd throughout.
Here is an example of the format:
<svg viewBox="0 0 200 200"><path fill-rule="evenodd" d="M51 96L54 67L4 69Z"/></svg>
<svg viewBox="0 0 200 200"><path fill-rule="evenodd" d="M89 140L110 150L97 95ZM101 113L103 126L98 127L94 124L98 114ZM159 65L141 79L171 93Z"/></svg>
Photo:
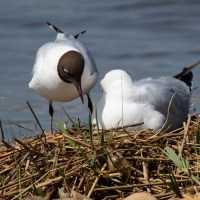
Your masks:
<svg viewBox="0 0 200 200"><path fill-rule="evenodd" d="M169 146L176 154L188 157L190 173L198 178L199 121L197 116L173 133L127 131L121 127L99 133L94 130L91 138L91 129L80 126L86 139L77 128L65 127L67 134L63 130L53 135L43 131L34 137L13 138L12 143L2 140L0 198L34 195L61 199L59 188L96 200L123 199L143 191L158 199L176 197L166 184L171 181L170 173L181 192L186 182L187 188L197 184L161 149ZM198 186L195 188L197 191Z"/></svg>

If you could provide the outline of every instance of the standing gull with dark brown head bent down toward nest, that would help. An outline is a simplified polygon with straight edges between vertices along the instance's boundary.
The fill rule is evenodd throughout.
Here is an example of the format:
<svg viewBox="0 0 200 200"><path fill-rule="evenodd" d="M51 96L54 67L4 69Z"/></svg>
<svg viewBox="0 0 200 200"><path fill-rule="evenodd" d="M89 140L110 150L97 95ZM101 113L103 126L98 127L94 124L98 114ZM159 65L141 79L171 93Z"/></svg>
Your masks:
<svg viewBox="0 0 200 200"><path fill-rule="evenodd" d="M89 50L76 39L85 31L72 36L47 23L57 32L55 42L42 45L36 55L29 88L49 100L50 132L52 133L52 101L68 102L83 94L88 97L88 107L92 113L89 92L97 83L99 72Z"/></svg>

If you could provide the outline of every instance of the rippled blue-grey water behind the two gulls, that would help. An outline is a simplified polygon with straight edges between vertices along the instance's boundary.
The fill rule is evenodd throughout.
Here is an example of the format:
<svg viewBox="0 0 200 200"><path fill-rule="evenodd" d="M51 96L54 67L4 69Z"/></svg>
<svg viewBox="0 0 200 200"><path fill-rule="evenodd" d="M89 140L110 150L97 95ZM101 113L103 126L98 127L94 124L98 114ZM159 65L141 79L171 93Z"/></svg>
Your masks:
<svg viewBox="0 0 200 200"><path fill-rule="evenodd" d="M26 101L49 131L48 101L28 88L38 48L56 37L46 25L47 21L72 35L87 31L79 41L91 51L100 79L106 72L121 68L138 80L173 76L200 60L199 10L199 0L1 0L0 118L5 133L32 134L5 125L9 120L35 129ZM195 95L200 90L200 66L193 73ZM98 100L100 85L91 93ZM200 112L199 97L197 94L195 98L197 113ZM55 117L65 121L60 105L57 102L53 105ZM82 105L80 99L62 105L71 116L87 122L87 104Z"/></svg>

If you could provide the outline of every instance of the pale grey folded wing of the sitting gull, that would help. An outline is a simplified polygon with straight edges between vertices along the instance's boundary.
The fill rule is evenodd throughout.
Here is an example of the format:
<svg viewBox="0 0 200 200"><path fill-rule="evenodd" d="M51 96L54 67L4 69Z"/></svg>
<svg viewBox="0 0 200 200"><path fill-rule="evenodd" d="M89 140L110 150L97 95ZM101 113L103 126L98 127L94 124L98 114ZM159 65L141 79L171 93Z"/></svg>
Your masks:
<svg viewBox="0 0 200 200"><path fill-rule="evenodd" d="M171 77L161 77L159 80L143 79L134 83L140 95L136 101L151 104L165 116L170 113L188 114L190 90L187 85Z"/></svg>

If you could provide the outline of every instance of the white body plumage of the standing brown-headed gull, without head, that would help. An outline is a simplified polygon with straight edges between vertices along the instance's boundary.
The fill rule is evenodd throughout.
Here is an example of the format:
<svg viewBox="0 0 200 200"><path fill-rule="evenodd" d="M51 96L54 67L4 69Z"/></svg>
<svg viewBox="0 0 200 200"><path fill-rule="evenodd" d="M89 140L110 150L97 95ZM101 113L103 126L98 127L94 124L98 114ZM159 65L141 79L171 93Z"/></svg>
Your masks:
<svg viewBox="0 0 200 200"><path fill-rule="evenodd" d="M46 43L39 48L29 88L49 101L67 102L77 98L79 94L76 87L61 80L57 71L61 56L72 50L84 57L81 86L83 94L89 94L98 81L98 70L88 49L67 32L58 33L55 42Z"/></svg>

